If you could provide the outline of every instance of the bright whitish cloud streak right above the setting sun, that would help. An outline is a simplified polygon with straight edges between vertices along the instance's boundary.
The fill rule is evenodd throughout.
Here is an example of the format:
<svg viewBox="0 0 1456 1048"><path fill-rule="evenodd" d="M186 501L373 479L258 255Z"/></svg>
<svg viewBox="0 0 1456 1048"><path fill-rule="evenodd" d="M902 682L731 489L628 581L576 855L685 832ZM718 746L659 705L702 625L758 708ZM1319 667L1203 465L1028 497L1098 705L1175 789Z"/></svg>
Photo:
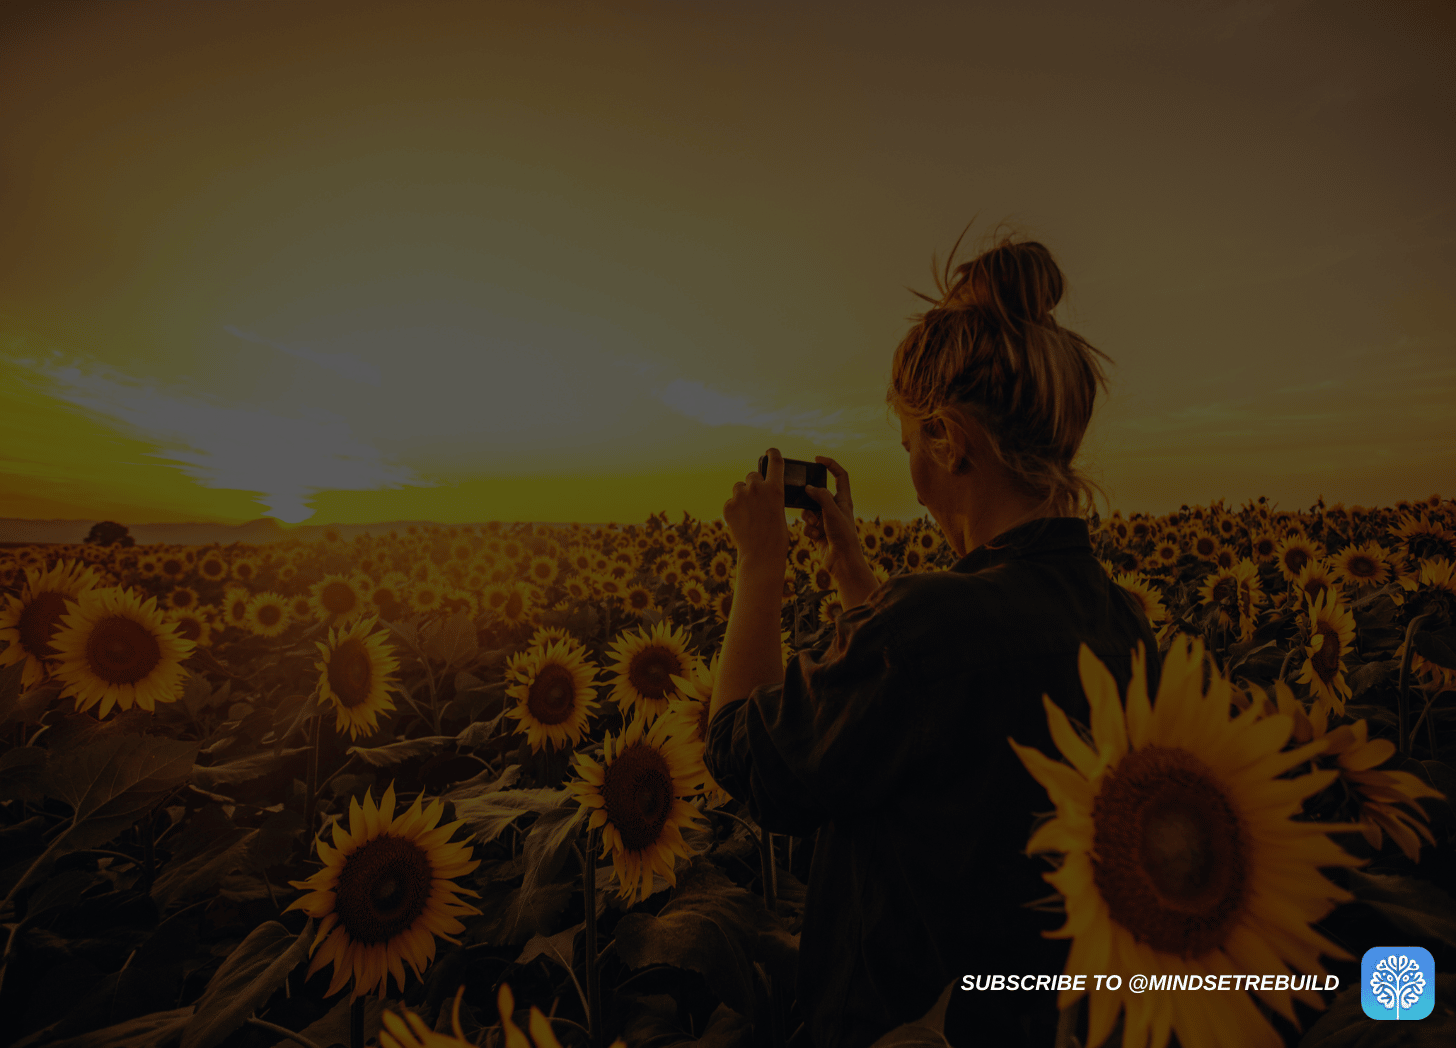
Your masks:
<svg viewBox="0 0 1456 1048"><path fill-rule="evenodd" d="M208 488L259 492L258 502L284 523L313 515L309 499L328 489L373 491L434 486L408 467L384 461L348 422L317 409L296 416L227 408L211 399L157 389L106 365L83 370L60 360L19 360L51 380L50 396L111 419L159 450Z"/></svg>

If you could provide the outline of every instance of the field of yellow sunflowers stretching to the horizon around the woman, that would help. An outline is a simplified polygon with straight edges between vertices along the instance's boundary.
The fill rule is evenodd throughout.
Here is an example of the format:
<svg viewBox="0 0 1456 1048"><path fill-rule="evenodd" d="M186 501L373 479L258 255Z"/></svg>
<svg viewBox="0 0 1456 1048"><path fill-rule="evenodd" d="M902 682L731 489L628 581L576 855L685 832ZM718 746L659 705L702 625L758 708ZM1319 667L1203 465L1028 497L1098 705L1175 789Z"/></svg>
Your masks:
<svg viewBox="0 0 1456 1048"><path fill-rule="evenodd" d="M1214 1017L1095 999L1089 1044L1353 1044L1392 942L1456 1023L1456 504L1089 525L1163 674L1118 696L1085 654L1093 723L1048 706L1066 763L1018 748L1069 965L1293 975ZM929 518L859 533L881 582L957 560ZM791 540L786 661L843 608ZM686 514L0 549L4 1042L782 1045L814 841L703 764L734 581ZM1159 789L1223 819L1211 910L1130 902L1174 876L1136 853L1093 884L1092 833Z"/></svg>

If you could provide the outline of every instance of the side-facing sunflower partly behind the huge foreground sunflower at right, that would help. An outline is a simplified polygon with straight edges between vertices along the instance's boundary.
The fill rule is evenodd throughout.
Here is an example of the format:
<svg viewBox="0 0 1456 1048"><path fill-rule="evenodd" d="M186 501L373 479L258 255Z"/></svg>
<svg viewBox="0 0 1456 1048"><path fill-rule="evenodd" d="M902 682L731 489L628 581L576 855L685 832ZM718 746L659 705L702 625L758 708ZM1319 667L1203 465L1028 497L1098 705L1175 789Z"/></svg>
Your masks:
<svg viewBox="0 0 1456 1048"><path fill-rule="evenodd" d="M1340 779L1360 805L1360 833L1366 841L1370 847L1379 849L1383 843L1383 830L1411 862L1420 862L1421 838L1430 844L1434 844L1436 838L1418 801L1444 799L1446 795L1433 790L1409 771L1379 770L1380 764L1395 755L1395 742L1369 738L1369 725L1364 720L1328 731L1329 704L1319 700L1306 710L1289 684L1281 680L1274 681L1274 702L1265 699L1264 703L1265 716L1277 712L1294 719L1296 742L1326 738L1328 732L1329 748L1324 755L1337 758Z"/></svg>

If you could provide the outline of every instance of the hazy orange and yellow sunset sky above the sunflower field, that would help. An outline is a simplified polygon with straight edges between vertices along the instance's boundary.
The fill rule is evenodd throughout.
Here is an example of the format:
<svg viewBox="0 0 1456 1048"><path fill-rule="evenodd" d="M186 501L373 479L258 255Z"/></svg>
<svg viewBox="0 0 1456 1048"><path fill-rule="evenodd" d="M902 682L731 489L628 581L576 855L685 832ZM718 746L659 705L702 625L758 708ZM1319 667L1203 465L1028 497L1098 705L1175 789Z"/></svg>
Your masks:
<svg viewBox="0 0 1456 1048"><path fill-rule="evenodd" d="M1446 3L10 0L0 87L0 517L716 518L778 447L910 520L967 224L1114 361L1101 512L1456 495Z"/></svg>

